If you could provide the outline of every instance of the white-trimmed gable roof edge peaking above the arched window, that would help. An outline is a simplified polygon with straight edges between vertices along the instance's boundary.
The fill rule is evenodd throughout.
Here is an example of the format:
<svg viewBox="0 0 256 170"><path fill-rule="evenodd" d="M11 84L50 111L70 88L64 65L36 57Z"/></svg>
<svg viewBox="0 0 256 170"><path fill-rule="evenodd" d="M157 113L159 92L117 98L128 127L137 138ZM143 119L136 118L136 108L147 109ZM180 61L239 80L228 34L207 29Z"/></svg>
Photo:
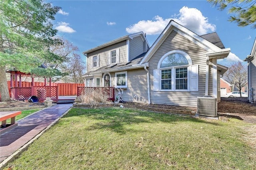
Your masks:
<svg viewBox="0 0 256 170"><path fill-rule="evenodd" d="M228 54L230 52L230 48L222 49L222 48L218 47L217 45L215 45L214 43L208 41L208 40L211 40L211 41L214 40L213 39L214 34L206 35L203 38L201 36L198 36L194 32L188 30L184 26L178 24L174 20L170 20L169 24L166 26L166 28L164 28L163 32L160 34L160 36L157 38L157 40L153 43L152 47L148 50L148 52L146 53L144 58L140 61L140 64L146 63L149 61L149 59L152 57L152 55L156 52L156 50L160 47L160 45L162 45L164 40L168 37L170 32L172 32L173 30L175 32L177 32L178 34L184 36L188 40L196 43L197 45L199 45L206 51L208 51L208 53L206 53L206 55L208 55L209 58L217 58L217 59L225 58L228 56ZM208 40L206 40L205 38L207 38ZM219 38L216 38L215 43L221 46L220 43L217 43L218 39ZM224 47L224 45L223 45L223 47Z"/></svg>

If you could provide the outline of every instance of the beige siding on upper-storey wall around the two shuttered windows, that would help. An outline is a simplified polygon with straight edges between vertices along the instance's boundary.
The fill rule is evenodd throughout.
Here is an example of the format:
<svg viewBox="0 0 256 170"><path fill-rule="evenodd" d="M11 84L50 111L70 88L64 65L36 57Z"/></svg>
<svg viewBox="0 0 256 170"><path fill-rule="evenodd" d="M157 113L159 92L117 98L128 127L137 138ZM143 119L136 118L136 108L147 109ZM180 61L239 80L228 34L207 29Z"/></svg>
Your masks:
<svg viewBox="0 0 256 170"><path fill-rule="evenodd" d="M120 49L119 55L120 55L120 63L127 61L127 45L126 41L116 43L114 45L110 45L108 47L93 51L91 53L87 54L87 72L95 71L99 69L100 67L108 65L108 54L109 51L112 49ZM92 63L92 57L95 55L99 55L100 57L100 66L99 67L91 67Z"/></svg>

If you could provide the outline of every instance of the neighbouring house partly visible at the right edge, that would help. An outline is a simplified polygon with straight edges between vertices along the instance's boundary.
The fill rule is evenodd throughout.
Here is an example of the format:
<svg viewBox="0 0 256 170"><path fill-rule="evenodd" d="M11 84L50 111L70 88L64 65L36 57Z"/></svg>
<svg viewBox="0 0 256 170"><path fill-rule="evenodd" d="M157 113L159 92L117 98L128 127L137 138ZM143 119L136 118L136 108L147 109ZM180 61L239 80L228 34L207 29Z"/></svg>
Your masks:
<svg viewBox="0 0 256 170"><path fill-rule="evenodd" d="M244 61L248 62L248 99L256 103L256 38L250 55Z"/></svg>

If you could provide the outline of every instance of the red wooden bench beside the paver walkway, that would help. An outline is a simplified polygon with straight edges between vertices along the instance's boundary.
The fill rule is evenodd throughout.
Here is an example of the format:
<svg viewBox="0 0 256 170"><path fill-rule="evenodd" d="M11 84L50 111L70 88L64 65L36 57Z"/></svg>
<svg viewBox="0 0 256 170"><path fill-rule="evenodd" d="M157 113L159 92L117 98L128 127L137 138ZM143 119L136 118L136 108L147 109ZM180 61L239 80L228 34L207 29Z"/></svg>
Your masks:
<svg viewBox="0 0 256 170"><path fill-rule="evenodd" d="M2 122L1 128L0 128L0 134L3 134L8 130L18 126L18 123L16 123L16 116L20 114L21 114L21 111L0 112L0 121ZM6 124L7 119L11 119L11 124Z"/></svg>

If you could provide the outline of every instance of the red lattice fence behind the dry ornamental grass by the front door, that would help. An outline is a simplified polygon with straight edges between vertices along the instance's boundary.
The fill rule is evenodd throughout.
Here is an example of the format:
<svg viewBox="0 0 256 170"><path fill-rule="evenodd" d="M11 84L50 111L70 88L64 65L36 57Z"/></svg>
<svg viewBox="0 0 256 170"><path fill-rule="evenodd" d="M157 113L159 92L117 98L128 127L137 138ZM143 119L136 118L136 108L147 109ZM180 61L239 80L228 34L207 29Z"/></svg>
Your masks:
<svg viewBox="0 0 256 170"><path fill-rule="evenodd" d="M104 95L105 99L111 101L115 100L115 88L114 87L77 87L77 96L86 96L92 93L98 95Z"/></svg>

